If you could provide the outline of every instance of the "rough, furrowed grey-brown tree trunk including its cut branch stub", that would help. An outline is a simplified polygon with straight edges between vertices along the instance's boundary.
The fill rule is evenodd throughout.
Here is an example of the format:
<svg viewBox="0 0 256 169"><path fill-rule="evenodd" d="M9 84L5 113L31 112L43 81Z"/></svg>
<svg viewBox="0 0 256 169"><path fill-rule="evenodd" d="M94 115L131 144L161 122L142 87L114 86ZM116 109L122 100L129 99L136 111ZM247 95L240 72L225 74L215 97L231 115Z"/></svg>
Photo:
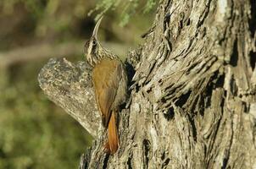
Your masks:
<svg viewBox="0 0 256 169"><path fill-rule="evenodd" d="M80 168L256 168L255 9L253 0L159 2L128 56L135 74L115 155L103 152L91 69L51 59L42 90L95 138Z"/></svg>

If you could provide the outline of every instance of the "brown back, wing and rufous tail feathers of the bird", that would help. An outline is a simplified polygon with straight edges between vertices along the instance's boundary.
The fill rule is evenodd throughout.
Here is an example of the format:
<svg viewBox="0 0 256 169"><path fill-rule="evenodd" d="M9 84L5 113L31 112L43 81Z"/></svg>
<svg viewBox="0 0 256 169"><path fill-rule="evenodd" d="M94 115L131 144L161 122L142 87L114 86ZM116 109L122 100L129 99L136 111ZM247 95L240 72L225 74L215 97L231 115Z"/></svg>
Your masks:
<svg viewBox="0 0 256 169"><path fill-rule="evenodd" d="M101 60L92 70L92 79L95 90L97 105L102 113L103 126L108 128L109 151L111 154L118 149L118 131L115 122L114 101L120 85L119 60L105 58ZM108 146L107 146L108 147Z"/></svg>

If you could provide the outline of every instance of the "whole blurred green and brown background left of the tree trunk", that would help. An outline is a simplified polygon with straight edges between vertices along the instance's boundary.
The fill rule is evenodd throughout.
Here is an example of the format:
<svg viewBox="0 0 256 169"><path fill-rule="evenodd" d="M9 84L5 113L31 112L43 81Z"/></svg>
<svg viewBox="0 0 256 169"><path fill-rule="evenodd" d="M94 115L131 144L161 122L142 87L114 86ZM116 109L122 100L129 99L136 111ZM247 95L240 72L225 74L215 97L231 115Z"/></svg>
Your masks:
<svg viewBox="0 0 256 169"><path fill-rule="evenodd" d="M100 41L124 58L142 43L155 6L154 0L0 1L0 169L78 167L92 137L47 100L37 74L50 57L84 60L101 13Z"/></svg>

